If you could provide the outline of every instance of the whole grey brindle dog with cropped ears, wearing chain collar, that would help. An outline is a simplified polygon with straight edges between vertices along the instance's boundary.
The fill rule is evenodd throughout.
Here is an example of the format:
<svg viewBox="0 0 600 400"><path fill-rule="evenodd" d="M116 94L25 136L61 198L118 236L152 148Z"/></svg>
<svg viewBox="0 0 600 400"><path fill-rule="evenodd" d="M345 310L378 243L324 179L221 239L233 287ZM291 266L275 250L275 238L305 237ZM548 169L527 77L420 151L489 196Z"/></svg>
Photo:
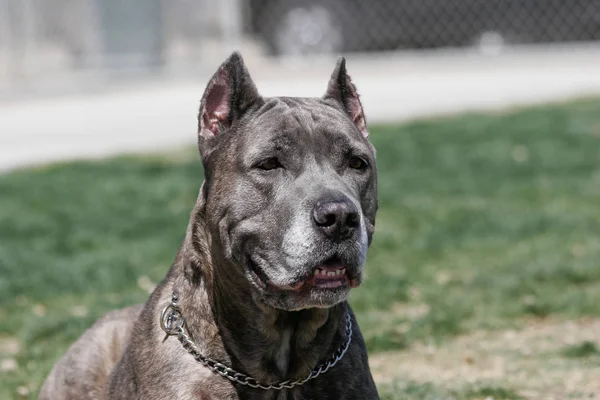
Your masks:
<svg viewBox="0 0 600 400"><path fill-rule="evenodd" d="M347 302L377 171L345 59L323 97L266 98L233 53L198 148L205 180L167 276L84 333L40 399L378 399Z"/></svg>

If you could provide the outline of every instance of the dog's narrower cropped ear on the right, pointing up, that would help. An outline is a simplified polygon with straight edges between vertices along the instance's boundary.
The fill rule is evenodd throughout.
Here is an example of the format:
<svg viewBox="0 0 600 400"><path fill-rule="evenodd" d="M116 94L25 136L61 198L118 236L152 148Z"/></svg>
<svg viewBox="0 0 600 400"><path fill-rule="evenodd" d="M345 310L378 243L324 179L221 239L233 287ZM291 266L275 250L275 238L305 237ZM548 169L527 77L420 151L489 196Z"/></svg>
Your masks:
<svg viewBox="0 0 600 400"><path fill-rule="evenodd" d="M354 86L350 76L346 72L346 59L344 57L338 59L323 99L334 100L341 104L348 117L350 117L352 122L358 127L358 130L360 130L360 133L364 137L369 136L365 113L360 103L356 86Z"/></svg>

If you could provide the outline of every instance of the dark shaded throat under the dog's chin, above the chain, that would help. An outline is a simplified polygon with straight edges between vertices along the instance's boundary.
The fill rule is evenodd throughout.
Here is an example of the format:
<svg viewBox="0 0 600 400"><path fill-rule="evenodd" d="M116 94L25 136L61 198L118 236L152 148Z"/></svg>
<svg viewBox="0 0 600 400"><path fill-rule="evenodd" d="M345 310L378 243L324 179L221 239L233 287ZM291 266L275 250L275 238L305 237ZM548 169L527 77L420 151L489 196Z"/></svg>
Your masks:
<svg viewBox="0 0 600 400"><path fill-rule="evenodd" d="M254 300L245 278L230 279L220 271L215 270L213 304L233 365L263 382L303 378L342 344L345 305L277 310Z"/></svg>

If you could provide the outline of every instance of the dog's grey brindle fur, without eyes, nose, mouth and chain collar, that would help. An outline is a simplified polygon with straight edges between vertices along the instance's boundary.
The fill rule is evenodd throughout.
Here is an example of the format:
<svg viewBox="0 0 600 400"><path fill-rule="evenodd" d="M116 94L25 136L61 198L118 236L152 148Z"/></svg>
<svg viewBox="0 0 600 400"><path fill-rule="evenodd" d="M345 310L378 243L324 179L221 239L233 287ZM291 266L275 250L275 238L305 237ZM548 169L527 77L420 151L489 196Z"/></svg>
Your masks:
<svg viewBox="0 0 600 400"><path fill-rule="evenodd" d="M217 84L222 85L219 89L225 90L227 103L219 104L227 117L218 121L219 137L211 137L210 132L208 136L203 134L203 129L210 125L203 110L210 107L210 96L214 95L211 90L214 92ZM365 137L364 115L346 75L344 60L338 62L324 98L264 99L258 96L241 56L234 53L209 83L199 118L205 183L170 271L145 305L108 314L73 344L54 366L42 387L40 399L378 399L365 344L346 302L347 294L340 298L318 298L326 307L315 307L312 303L307 306L302 301L309 300L290 300L286 295L269 297L250 284L247 271L240 265L242 250L250 246L247 243L253 243L252 246L271 259L279 257L282 251L290 254L296 251L288 249L289 241L283 233L278 236L277 232L287 226L290 235L292 223L286 221L304 212L294 209L294 204L321 195L343 192L351 196L360 206L364 219L361 229L364 228L370 244L377 208L374 151ZM266 123L266 127L261 123ZM324 141L319 136L320 130L333 129L336 135L345 138L343 140L362 146L370 157L372 171L356 178L358 180L350 177L350 181L341 181L331 169L321 169L307 180L288 186L292 193L287 195L276 194L265 187L256 189L244 183L246 178L240 172L238 161L240 152L246 151L248 140L262 140L261 132L269 127L307 135L306 143L295 143L295 151L314 159L334 157L319 153L333 154L336 146L340 146L339 141ZM309 131L317 133L309 137ZM323 162L313 167L325 168ZM332 190L337 192L332 194ZM288 208L275 204L276 208L267 212L283 214L278 214L278 218L265 214L254 225L245 226L243 233L236 233L239 221L263 215L260 210L276 203L273 199L278 196L283 196L281 201ZM249 205L238 207L244 202ZM296 231L305 232L300 228ZM299 237L304 237L302 235ZM256 242L260 240L265 242ZM364 240L366 243L367 239ZM298 245L304 244L292 247ZM366 250L356 243L348 246L336 247L336 251L348 268L354 265L353 271L360 281ZM307 245L300 250L313 247ZM313 251L314 257L319 251L329 251L327 249L318 247ZM273 276L288 279L288 275L294 273L297 272L291 269L278 270ZM200 352L262 382L303 377L329 357L344 341L348 311L352 316L353 340L334 368L303 386L264 391L232 384L196 362L175 337L161 330L160 312L170 303L173 291L180 297L186 329Z"/></svg>

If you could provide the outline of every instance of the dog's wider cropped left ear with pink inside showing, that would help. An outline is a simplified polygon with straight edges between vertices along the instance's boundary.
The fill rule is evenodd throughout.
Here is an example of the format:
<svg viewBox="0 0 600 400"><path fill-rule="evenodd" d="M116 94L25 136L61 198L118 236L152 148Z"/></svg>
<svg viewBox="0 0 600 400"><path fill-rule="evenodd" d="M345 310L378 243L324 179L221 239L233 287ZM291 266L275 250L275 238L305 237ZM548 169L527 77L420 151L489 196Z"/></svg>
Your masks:
<svg viewBox="0 0 600 400"><path fill-rule="evenodd" d="M206 86L198 113L200 144L219 136L261 99L240 53L234 52Z"/></svg>

